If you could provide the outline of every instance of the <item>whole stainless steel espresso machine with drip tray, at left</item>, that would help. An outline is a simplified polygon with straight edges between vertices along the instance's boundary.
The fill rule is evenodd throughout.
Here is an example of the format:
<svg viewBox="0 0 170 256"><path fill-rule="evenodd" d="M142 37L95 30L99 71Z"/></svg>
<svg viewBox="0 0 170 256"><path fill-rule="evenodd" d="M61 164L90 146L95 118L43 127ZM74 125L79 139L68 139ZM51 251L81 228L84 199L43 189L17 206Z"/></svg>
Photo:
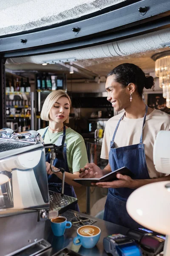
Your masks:
<svg viewBox="0 0 170 256"><path fill-rule="evenodd" d="M16 134L0 130L0 256L37 255L51 244L44 239L45 221L65 212L77 198L48 190L45 152L62 157L62 145L44 145L37 131ZM27 250L27 251L28 251Z"/></svg>

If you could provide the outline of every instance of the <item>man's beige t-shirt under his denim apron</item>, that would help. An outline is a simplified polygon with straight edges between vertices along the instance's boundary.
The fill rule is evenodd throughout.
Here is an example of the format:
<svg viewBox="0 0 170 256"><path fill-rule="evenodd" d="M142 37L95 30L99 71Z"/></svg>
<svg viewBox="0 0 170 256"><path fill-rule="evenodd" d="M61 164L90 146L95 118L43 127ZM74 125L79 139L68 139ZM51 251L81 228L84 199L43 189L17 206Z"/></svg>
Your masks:
<svg viewBox="0 0 170 256"><path fill-rule="evenodd" d="M123 113L113 116L106 124L100 156L102 159L109 158L110 142L113 138L116 125L122 116ZM140 143L143 119L143 117L129 119L126 116L123 118L119 124L114 140L116 148ZM153 145L157 133L161 130L170 130L170 116L160 110L153 110L152 113L146 116L143 130L144 151L150 178L164 176L164 174L156 171L153 164Z"/></svg>

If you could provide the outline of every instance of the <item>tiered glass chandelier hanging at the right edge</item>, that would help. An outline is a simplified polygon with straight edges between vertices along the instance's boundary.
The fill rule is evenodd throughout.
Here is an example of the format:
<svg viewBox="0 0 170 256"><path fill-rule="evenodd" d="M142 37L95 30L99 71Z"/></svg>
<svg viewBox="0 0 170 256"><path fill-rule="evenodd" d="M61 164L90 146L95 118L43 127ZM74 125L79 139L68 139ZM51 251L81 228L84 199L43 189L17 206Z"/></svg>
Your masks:
<svg viewBox="0 0 170 256"><path fill-rule="evenodd" d="M152 59L155 61L155 74L159 77L159 87L163 90L167 108L170 108L170 51L157 53Z"/></svg>

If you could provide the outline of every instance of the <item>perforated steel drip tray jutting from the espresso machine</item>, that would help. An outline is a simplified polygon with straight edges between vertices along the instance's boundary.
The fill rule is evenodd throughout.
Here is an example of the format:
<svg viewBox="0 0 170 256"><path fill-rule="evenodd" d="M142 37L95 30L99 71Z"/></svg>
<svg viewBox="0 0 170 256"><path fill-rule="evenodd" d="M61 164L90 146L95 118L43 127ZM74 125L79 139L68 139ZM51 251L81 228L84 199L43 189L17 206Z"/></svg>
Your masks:
<svg viewBox="0 0 170 256"><path fill-rule="evenodd" d="M50 208L49 218L57 217L62 212L65 212L71 204L77 202L77 198L68 195L61 196L61 194L49 191Z"/></svg>

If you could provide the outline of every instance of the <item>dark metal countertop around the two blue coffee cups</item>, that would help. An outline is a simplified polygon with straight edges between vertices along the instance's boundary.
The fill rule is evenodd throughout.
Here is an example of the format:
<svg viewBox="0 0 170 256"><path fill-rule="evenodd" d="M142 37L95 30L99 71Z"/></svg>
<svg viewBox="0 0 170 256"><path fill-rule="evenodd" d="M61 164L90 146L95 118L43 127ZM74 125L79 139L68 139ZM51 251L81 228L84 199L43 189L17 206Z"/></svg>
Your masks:
<svg viewBox="0 0 170 256"><path fill-rule="evenodd" d="M71 228L66 229L63 236L54 236L51 230L51 221L47 220L45 223L45 239L52 245L51 248L46 250L44 253L40 254L41 256L52 256L55 253L57 253L59 250L62 250L63 248L67 247L71 250L73 250L76 253L79 253L79 255L82 256L108 256L108 254L105 252L103 248L103 238L105 236L121 233L126 234L128 228L122 227L116 224L113 224L108 221L103 221L98 218L91 217L90 215L86 215L80 212L76 212L73 210L70 210L71 212L75 212L82 217L91 218L93 220L96 220L96 223L94 226L97 226L101 229L101 235L99 242L96 244L96 246L92 249L86 249L80 245L74 245L73 239L77 236L77 228L74 225L72 225Z"/></svg>

